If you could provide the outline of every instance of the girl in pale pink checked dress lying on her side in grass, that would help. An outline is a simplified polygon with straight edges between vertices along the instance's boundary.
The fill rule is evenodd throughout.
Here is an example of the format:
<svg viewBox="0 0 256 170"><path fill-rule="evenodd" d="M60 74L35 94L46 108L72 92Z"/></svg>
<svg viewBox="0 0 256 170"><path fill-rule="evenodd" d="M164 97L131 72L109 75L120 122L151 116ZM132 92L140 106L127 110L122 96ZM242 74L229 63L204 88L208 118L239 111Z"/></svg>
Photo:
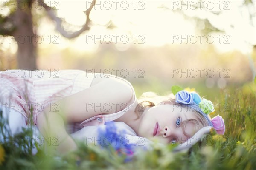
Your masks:
<svg viewBox="0 0 256 170"><path fill-rule="evenodd" d="M109 74L5 70L0 76L1 110L9 119L12 135L34 123L45 139L58 140L60 153L76 150L74 139L101 144L94 138L94 127L111 121L116 122L119 134L125 130L163 144L184 143L203 127L214 127L221 134L225 130L221 116L210 120L205 114L214 111L210 101L181 89L176 89L175 96L145 93L145 99L138 101L127 80Z"/></svg>

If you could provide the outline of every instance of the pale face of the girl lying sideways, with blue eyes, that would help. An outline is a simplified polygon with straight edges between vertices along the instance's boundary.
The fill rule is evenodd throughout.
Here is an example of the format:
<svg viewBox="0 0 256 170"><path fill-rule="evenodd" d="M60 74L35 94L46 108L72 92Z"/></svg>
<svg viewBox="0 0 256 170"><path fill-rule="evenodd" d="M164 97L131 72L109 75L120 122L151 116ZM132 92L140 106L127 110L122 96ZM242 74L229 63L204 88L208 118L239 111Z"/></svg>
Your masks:
<svg viewBox="0 0 256 170"><path fill-rule="evenodd" d="M181 122L186 119L196 119L195 111L177 105L157 105L145 111L141 116L138 136L163 144L183 143L194 135L195 125L188 122L183 133Z"/></svg>

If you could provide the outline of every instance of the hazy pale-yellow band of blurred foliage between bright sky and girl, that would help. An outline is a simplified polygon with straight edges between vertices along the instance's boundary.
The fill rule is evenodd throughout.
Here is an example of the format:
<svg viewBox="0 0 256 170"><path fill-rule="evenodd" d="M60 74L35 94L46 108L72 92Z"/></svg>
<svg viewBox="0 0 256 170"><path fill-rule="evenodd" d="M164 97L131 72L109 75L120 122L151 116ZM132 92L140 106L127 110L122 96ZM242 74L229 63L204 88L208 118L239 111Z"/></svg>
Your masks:
<svg viewBox="0 0 256 170"><path fill-rule="evenodd" d="M76 55L74 55L76 54ZM160 81L172 86L173 83L195 83L212 79L218 86L220 78L227 84L244 83L253 79L252 67L256 67L256 53L247 56L240 51L219 52L214 45L179 44L162 47L138 48L131 45L127 51L118 51L114 43L100 44L94 53L77 51L72 48L58 49L57 45L42 46L38 51L39 69L90 69L94 72L106 72L119 69L115 75L124 77L133 83L151 83ZM250 57L250 59L249 59ZM12 49L0 50L0 69L16 67ZM125 71L127 69L128 76ZM136 71L134 71L136 69ZM175 69L178 71L174 74ZM196 70L196 76L193 77ZM198 69L204 69L202 75ZM214 72L213 77L206 71ZM182 74L187 70L187 74ZM246 75L246 76L245 76Z"/></svg>

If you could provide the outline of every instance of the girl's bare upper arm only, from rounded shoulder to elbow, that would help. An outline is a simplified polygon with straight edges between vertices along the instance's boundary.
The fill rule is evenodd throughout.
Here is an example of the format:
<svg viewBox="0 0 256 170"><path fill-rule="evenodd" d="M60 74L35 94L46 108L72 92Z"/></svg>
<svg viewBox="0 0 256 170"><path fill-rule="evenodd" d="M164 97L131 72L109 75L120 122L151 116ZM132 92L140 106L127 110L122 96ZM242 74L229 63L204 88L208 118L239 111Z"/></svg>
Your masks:
<svg viewBox="0 0 256 170"><path fill-rule="evenodd" d="M68 121L79 122L99 114L116 113L132 102L133 91L123 80L115 77L94 80L90 88L58 101L59 108L63 108L61 114Z"/></svg>

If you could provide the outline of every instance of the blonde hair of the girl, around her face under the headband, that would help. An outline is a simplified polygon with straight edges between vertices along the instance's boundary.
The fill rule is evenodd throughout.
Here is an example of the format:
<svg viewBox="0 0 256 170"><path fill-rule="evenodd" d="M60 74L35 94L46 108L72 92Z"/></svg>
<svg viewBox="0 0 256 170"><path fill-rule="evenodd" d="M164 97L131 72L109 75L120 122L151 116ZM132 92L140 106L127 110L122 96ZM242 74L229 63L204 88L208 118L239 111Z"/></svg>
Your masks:
<svg viewBox="0 0 256 170"><path fill-rule="evenodd" d="M145 111L145 108L153 107L155 105L160 105L163 102L167 102L168 104L171 104L171 105L178 105L181 107L181 105L179 103L175 102L175 96L172 93L168 94L166 96L160 96L151 91L145 92L138 99L139 104L136 106L136 113L138 116L137 119L139 119L139 117L143 114L143 112ZM182 105L182 107L188 107L188 106ZM188 137L192 137L192 136L189 136L188 133L185 132L186 125L188 123L192 123L193 125L195 125L194 132L197 132L198 130L200 130L201 128L203 128L205 126L208 126L208 121L204 118L204 116L202 116L197 111L192 111L192 112L195 113L195 116L197 117L198 120L186 119L185 121L181 122L181 124L180 124L183 129L183 133Z"/></svg>

